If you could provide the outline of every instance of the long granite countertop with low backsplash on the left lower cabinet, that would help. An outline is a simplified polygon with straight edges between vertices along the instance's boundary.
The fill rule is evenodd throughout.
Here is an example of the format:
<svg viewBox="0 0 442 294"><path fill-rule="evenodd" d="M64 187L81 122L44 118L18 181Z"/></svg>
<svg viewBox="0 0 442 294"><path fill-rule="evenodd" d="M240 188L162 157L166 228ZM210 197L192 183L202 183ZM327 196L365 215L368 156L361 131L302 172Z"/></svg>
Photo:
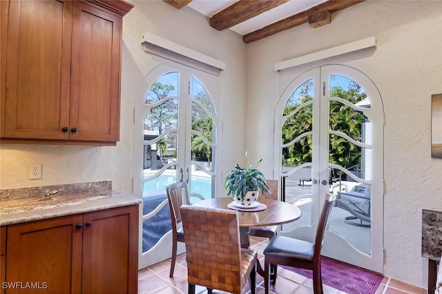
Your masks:
<svg viewBox="0 0 442 294"><path fill-rule="evenodd" d="M140 204L142 199L115 192L112 182L0 190L0 226Z"/></svg>

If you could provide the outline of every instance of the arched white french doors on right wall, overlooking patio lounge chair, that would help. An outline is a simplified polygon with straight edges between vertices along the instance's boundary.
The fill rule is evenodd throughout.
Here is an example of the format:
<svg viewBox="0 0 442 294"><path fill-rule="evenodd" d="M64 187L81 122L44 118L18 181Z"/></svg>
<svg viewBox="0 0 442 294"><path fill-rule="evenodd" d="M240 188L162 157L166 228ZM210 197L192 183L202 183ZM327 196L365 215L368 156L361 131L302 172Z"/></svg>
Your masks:
<svg viewBox="0 0 442 294"><path fill-rule="evenodd" d="M383 273L383 105L373 82L348 66L280 73L275 170L282 199L302 217L281 235L314 241L325 193L337 200L323 255Z"/></svg>

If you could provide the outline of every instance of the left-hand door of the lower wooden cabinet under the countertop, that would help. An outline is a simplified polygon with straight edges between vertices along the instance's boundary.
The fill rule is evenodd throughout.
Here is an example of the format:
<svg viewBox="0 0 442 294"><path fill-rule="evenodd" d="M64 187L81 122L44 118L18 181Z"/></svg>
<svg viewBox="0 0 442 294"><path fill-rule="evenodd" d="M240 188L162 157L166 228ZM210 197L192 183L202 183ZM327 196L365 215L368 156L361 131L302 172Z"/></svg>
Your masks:
<svg viewBox="0 0 442 294"><path fill-rule="evenodd" d="M80 293L82 215L8 226L6 282L23 284L6 293ZM43 291L43 290L42 290Z"/></svg>

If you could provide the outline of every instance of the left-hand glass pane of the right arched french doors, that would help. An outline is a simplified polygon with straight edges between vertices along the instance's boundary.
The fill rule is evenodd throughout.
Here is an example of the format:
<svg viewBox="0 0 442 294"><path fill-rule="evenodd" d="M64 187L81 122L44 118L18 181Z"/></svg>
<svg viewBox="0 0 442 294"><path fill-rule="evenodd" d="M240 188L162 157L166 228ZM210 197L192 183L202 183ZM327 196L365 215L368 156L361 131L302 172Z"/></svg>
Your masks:
<svg viewBox="0 0 442 294"><path fill-rule="evenodd" d="M282 200L302 210L300 219L282 226L284 231L311 224L313 90L313 79L301 84L282 114Z"/></svg>

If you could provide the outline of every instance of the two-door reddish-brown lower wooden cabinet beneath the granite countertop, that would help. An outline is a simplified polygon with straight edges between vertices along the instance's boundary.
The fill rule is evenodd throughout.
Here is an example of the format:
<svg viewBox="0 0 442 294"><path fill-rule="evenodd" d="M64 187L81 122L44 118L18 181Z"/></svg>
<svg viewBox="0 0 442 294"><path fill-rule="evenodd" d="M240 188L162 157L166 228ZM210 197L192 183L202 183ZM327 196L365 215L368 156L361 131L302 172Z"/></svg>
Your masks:
<svg viewBox="0 0 442 294"><path fill-rule="evenodd" d="M137 205L10 225L6 233L6 293L137 293Z"/></svg>

